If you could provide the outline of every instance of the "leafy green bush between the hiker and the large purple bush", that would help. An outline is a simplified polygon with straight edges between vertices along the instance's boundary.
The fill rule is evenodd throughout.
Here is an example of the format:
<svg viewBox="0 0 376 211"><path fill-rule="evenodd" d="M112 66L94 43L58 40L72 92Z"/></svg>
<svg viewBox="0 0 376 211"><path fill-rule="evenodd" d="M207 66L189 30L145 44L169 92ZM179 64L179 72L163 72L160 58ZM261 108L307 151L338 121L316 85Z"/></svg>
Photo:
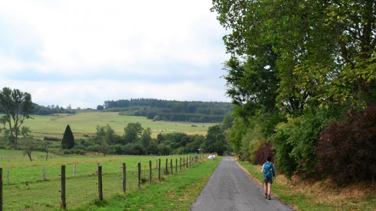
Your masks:
<svg viewBox="0 0 376 211"><path fill-rule="evenodd" d="M318 159L317 139L328 120L323 112L309 112L276 127L270 141L276 150L276 164L287 177L313 176Z"/></svg>

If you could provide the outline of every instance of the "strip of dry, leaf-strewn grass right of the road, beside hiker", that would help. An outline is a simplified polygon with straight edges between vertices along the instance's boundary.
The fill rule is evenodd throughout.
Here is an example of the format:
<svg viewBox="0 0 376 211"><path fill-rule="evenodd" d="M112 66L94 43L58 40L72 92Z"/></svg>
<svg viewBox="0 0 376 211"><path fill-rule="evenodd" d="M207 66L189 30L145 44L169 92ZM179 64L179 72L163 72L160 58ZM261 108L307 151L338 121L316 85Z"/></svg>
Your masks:
<svg viewBox="0 0 376 211"><path fill-rule="evenodd" d="M250 175L262 182L261 166L247 162L238 162ZM278 169L277 169L278 170ZM272 193L283 203L297 211L371 211L376 210L376 195L369 195L360 199L336 199L336 191L326 190L323 195L310 193L314 187L296 187L288 185L283 176L278 176L273 183ZM324 188L323 188L324 189ZM312 191L313 192L313 191ZM327 194L325 194L327 193Z"/></svg>

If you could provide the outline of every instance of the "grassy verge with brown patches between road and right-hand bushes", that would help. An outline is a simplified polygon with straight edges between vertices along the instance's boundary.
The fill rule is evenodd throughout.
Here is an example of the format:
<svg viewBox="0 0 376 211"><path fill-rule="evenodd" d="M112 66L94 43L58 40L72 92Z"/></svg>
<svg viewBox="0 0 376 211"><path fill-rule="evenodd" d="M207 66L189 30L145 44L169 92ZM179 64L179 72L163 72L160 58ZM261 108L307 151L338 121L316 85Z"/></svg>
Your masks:
<svg viewBox="0 0 376 211"><path fill-rule="evenodd" d="M261 166L238 162L250 175L262 182ZM334 188L326 181L304 183L289 181L278 175L272 189L273 194L283 203L297 211L371 211L376 210L375 187L354 185Z"/></svg>

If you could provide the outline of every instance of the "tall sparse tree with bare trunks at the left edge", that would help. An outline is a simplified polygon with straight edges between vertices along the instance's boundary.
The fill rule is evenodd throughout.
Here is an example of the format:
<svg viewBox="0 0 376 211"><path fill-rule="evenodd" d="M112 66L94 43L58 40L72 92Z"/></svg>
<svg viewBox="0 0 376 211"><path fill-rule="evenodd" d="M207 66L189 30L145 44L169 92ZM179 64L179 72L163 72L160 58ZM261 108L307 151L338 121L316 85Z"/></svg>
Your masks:
<svg viewBox="0 0 376 211"><path fill-rule="evenodd" d="M2 88L0 91L0 112L5 115L0 117L0 122L7 125L9 131L8 138L13 148L17 149L18 135L20 128L26 119L30 119L30 114L34 111L31 95L19 89Z"/></svg>

